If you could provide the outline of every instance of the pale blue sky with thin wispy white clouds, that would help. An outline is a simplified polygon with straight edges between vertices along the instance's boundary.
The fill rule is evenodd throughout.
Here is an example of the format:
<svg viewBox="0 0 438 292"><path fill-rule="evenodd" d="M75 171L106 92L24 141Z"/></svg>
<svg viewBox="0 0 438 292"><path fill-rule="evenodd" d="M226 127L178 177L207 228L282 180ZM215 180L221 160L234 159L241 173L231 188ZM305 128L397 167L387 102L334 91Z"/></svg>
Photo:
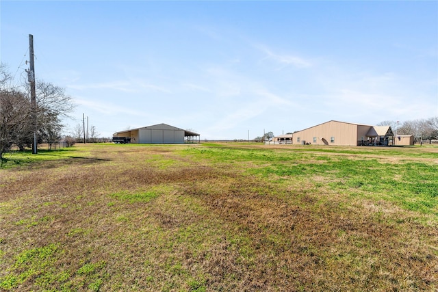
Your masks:
<svg viewBox="0 0 438 292"><path fill-rule="evenodd" d="M438 116L438 1L0 1L0 57L65 89L101 137L201 140Z"/></svg>

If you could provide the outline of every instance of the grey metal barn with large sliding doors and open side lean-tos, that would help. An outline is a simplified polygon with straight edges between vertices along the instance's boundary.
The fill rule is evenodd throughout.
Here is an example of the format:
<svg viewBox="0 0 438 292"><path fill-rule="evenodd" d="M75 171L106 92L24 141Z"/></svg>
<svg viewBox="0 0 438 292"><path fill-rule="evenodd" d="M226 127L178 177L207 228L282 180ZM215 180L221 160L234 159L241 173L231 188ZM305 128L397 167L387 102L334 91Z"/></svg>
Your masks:
<svg viewBox="0 0 438 292"><path fill-rule="evenodd" d="M183 144L199 143L200 135L168 124L155 124L138 129L129 129L113 134L113 137L128 137L131 143Z"/></svg>

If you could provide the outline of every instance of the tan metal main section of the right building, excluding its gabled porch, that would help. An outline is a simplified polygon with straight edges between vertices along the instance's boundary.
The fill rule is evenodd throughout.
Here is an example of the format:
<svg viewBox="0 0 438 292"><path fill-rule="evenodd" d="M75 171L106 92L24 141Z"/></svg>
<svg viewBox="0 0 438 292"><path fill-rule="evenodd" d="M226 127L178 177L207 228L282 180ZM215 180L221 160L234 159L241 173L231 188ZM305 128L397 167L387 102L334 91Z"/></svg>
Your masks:
<svg viewBox="0 0 438 292"><path fill-rule="evenodd" d="M346 122L330 121L315 127L294 133L294 144L305 143L315 145L350 145L357 146L359 140L358 128L361 127L360 136L367 133L369 126L359 126ZM368 127L365 131L365 127ZM334 138L332 142L331 137ZM316 138L315 140L313 138ZM299 141L298 141L299 139Z"/></svg>

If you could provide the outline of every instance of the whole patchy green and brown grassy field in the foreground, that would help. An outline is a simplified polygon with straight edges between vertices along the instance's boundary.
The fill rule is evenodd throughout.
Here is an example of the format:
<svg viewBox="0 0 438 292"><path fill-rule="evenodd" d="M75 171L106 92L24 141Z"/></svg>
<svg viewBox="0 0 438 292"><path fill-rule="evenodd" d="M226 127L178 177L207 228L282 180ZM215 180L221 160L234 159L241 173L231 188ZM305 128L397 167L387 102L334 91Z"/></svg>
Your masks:
<svg viewBox="0 0 438 292"><path fill-rule="evenodd" d="M437 291L438 148L6 154L0 290Z"/></svg>

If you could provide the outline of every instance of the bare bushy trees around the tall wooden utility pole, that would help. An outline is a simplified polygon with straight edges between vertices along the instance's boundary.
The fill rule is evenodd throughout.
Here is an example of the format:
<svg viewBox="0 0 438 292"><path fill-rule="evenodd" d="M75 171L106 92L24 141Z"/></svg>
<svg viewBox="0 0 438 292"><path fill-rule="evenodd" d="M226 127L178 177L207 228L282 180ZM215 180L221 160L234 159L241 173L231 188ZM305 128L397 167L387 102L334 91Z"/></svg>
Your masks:
<svg viewBox="0 0 438 292"><path fill-rule="evenodd" d="M38 144L47 143L51 148L60 142L64 127L61 118L73 108L73 98L64 88L43 80L36 81L36 108L31 107L29 83L14 84L8 66L1 63L0 159L12 146L20 150L30 148L34 131Z"/></svg>

